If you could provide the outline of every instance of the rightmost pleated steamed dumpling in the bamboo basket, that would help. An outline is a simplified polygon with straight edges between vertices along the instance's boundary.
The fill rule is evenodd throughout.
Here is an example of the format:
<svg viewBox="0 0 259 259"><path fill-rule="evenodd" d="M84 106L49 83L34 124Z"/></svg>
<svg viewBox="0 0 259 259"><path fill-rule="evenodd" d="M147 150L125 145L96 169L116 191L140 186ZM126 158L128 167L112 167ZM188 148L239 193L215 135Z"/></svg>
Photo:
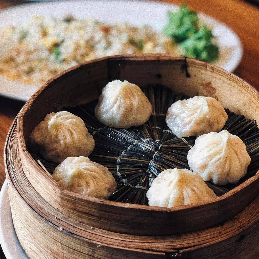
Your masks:
<svg viewBox="0 0 259 259"><path fill-rule="evenodd" d="M243 141L226 130L199 136L187 159L190 168L204 181L218 185L237 183L251 162Z"/></svg>

